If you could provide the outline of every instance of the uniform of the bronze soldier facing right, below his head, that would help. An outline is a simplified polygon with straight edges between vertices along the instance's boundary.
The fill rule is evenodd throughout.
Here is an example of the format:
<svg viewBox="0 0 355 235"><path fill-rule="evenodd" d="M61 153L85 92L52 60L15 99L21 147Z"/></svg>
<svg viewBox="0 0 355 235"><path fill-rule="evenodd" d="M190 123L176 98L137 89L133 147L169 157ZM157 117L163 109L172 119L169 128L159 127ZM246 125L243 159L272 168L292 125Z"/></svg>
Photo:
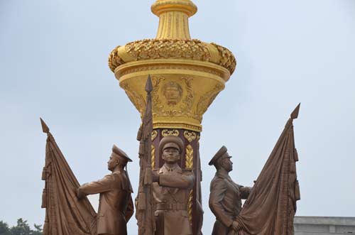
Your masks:
<svg viewBox="0 0 355 235"><path fill-rule="evenodd" d="M227 174L216 173L210 185L209 208L216 217L212 235L226 235L241 211L241 199L249 196L250 188L237 185Z"/></svg>

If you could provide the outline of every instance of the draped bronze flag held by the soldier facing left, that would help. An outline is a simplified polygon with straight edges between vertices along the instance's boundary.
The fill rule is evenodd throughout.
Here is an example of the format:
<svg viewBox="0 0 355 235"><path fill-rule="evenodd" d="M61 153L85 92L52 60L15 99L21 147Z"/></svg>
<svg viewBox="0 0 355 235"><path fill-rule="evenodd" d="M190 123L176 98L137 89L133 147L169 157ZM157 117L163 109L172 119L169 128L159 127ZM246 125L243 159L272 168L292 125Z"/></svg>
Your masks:
<svg viewBox="0 0 355 235"><path fill-rule="evenodd" d="M48 126L42 119L40 122L43 132L48 135L42 174L42 180L45 180L42 195L42 208L45 208L43 235L96 235L97 214L86 197L77 199L79 182Z"/></svg>

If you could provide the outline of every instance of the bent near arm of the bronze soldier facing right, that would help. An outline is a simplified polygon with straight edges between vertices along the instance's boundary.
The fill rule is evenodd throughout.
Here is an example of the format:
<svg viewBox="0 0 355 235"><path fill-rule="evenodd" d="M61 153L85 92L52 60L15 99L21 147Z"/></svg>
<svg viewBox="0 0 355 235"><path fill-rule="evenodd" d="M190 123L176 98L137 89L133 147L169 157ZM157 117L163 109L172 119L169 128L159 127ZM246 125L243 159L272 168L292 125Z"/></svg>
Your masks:
<svg viewBox="0 0 355 235"><path fill-rule="evenodd" d="M233 219L229 218L222 207L222 201L226 193L226 182L223 179L217 179L211 182L209 192L209 209L224 226L229 228L233 223Z"/></svg>

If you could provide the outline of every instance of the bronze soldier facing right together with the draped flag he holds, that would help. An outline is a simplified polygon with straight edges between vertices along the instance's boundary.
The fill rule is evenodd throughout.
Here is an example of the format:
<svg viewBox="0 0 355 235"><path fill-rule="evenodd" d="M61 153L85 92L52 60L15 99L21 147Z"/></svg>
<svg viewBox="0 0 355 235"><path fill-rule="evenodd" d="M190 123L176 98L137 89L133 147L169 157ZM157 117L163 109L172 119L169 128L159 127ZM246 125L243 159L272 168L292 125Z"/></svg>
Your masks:
<svg viewBox="0 0 355 235"><path fill-rule="evenodd" d="M234 185L234 194L228 195L226 185L230 180L224 177L227 180L218 183L217 171L217 176L211 183L209 197L209 206L217 218L212 234L293 235L296 201L300 200L300 187L296 175L298 155L295 148L293 119L297 119L299 111L300 104L290 115L250 195L247 188L238 185ZM225 147L222 147L212 158L210 165L218 162L222 153L226 153ZM242 198L248 198L243 209L241 209L240 199L235 200L234 203L231 202L232 198L235 199L239 195ZM231 203L231 207L224 205L227 202Z"/></svg>

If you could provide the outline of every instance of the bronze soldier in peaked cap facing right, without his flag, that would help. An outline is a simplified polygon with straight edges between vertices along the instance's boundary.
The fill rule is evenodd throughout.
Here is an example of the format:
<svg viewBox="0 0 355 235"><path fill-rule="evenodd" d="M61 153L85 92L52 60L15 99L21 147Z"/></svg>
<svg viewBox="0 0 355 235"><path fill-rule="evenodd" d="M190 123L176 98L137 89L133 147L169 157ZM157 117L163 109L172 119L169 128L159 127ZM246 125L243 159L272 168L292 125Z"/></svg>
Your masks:
<svg viewBox="0 0 355 235"><path fill-rule="evenodd" d="M217 169L209 193L209 208L216 217L212 235L232 234L239 229L235 219L241 211L241 199L247 199L251 188L237 185L231 180L229 172L233 170L233 163L225 146L219 149L208 164Z"/></svg>

